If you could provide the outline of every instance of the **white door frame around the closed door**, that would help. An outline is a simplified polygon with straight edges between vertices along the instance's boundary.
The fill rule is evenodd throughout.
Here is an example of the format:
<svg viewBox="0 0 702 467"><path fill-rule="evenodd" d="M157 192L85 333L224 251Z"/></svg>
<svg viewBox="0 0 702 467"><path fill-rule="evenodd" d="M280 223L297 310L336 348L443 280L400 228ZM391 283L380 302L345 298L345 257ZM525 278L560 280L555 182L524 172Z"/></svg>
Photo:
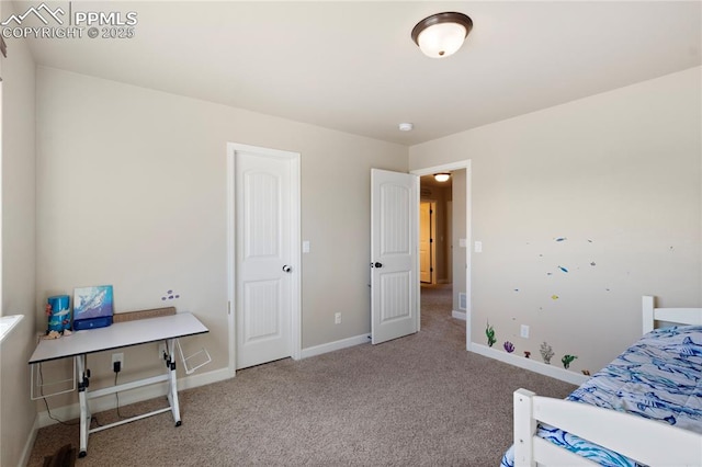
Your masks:
<svg viewBox="0 0 702 467"><path fill-rule="evenodd" d="M261 155L290 159L291 161L291 252L293 266L297 269L292 285L293 303L291 304L291 351L292 358L299 360L302 355L302 257L301 257L301 185L299 185L299 152L269 149L257 146L227 143L227 320L229 324L229 377L236 375L236 183L235 157L237 151L248 151Z"/></svg>

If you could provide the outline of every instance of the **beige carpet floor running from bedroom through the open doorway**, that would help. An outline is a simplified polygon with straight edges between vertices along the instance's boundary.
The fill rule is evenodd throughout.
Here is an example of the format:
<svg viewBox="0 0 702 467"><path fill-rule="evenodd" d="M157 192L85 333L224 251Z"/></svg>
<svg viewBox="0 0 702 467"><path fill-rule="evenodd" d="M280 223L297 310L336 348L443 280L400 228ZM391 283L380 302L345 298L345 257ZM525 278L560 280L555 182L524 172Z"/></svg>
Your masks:
<svg viewBox="0 0 702 467"><path fill-rule="evenodd" d="M450 287L422 287L421 296L416 334L183 390L181 426L163 413L94 433L76 465L497 466L511 444L512 391L565 397L574 386L466 352ZM159 405L165 398L120 412ZM76 425L44 428L29 465L78 441Z"/></svg>

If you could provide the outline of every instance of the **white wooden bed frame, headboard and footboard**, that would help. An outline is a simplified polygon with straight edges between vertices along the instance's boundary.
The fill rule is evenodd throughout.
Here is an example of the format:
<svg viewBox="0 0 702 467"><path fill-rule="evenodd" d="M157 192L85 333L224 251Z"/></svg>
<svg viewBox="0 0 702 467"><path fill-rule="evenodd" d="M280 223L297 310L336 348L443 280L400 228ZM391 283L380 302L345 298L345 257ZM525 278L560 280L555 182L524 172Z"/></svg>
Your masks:
<svg viewBox="0 0 702 467"><path fill-rule="evenodd" d="M656 308L643 297L643 331L655 321L702 324L702 308ZM514 391L514 466L592 466L595 463L535 435L536 423L568 433L649 466L702 466L702 434L581 402Z"/></svg>

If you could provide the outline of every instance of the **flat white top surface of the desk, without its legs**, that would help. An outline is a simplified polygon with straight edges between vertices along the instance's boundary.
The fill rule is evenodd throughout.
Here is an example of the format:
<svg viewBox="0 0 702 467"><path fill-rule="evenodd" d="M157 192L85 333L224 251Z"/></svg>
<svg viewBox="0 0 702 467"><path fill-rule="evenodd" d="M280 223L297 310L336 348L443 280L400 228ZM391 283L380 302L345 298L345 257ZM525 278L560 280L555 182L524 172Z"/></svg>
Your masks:
<svg viewBox="0 0 702 467"><path fill-rule="evenodd" d="M86 329L64 338L42 340L30 358L30 365L205 332L210 330L189 312L116 322L106 328Z"/></svg>

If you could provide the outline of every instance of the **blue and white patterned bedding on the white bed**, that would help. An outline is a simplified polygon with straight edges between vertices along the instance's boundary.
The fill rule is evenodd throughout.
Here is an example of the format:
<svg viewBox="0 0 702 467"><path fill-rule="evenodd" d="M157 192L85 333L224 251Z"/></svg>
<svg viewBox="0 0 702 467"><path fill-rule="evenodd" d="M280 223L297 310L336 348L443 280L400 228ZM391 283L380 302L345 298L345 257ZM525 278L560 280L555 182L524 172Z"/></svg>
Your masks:
<svg viewBox="0 0 702 467"><path fill-rule="evenodd" d="M702 326L661 328L645 334L566 400L630 412L702 434ZM540 424L537 434L603 466L638 466L548 425ZM500 465L514 465L513 446Z"/></svg>

